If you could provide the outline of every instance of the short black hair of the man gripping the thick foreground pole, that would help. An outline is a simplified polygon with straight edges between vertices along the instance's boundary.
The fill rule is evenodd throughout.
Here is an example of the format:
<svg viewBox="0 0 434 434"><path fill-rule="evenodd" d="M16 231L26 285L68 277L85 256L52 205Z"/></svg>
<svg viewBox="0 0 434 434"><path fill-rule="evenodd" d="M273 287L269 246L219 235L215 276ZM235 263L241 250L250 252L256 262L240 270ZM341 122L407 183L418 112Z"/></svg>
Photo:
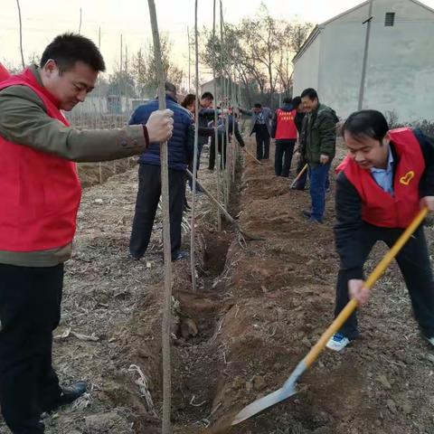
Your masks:
<svg viewBox="0 0 434 434"><path fill-rule="evenodd" d="M50 59L56 62L61 73L74 68L77 61L86 63L94 71L106 71L106 64L95 43L77 33L56 36L42 52L41 68Z"/></svg>

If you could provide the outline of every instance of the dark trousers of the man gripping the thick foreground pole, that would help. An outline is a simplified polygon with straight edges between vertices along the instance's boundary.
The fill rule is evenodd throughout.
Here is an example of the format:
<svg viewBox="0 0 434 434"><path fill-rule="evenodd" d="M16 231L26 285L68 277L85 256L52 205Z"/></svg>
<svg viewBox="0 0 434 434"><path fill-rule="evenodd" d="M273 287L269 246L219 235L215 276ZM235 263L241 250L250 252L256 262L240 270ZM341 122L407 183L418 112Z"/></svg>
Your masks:
<svg viewBox="0 0 434 434"><path fill-rule="evenodd" d="M0 264L0 403L14 434L39 434L42 409L59 399L52 330L61 317L63 264Z"/></svg>

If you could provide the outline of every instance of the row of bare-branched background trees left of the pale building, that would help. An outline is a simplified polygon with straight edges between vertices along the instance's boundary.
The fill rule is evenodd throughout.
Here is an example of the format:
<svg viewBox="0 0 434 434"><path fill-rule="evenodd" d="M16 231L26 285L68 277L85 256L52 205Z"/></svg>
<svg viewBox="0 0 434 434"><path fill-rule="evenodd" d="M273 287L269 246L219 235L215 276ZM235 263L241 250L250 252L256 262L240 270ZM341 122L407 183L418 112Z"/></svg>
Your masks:
<svg viewBox="0 0 434 434"><path fill-rule="evenodd" d="M260 101L275 107L278 94L290 95L292 59L312 28L313 24L309 23L278 20L262 4L255 17L245 18L240 24L224 24L222 40L220 32L213 40L212 29L203 28L200 61L210 72L216 61L219 76L233 80L236 75L241 83L241 99L247 105ZM171 61L172 46L167 35L160 37L167 80L181 89L184 71ZM131 60L126 59L122 67L118 65L106 84L108 94L121 93L141 99L154 97L157 80L152 44L149 42L138 50Z"/></svg>

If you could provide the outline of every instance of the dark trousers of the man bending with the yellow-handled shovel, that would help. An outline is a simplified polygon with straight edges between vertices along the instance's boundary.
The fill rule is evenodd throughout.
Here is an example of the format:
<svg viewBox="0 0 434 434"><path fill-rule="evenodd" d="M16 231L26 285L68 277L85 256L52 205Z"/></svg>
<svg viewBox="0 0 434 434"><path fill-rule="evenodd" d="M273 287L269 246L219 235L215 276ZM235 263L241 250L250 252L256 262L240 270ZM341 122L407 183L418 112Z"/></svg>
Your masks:
<svg viewBox="0 0 434 434"><path fill-rule="evenodd" d="M384 241L389 247L398 240L401 229L379 228L370 224L363 224L362 233L358 235L362 242L360 252L363 262L368 257L376 241ZM434 283L429 264L429 252L423 228L420 227L410 237L396 257L401 269L407 289L409 290L411 305L420 330L427 337L434 336ZM363 269L340 269L336 287L335 315L345 307L349 301L348 281L352 278L363 279ZM354 312L341 329L341 333L349 339L358 337L357 317Z"/></svg>

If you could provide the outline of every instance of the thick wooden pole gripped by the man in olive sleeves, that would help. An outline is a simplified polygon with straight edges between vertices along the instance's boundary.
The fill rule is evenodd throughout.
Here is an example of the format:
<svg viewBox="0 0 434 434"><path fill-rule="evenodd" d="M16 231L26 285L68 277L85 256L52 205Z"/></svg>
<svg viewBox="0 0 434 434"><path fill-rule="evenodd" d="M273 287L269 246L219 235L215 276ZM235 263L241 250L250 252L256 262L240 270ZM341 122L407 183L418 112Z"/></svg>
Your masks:
<svg viewBox="0 0 434 434"><path fill-rule="evenodd" d="M147 0L152 25L154 52L156 58L156 71L158 77L158 106L165 109L165 72L161 61L160 37L156 21L156 5L154 0ZM163 434L172 433L171 401L172 401L172 371L170 348L170 325L172 322L172 255L170 245L170 218L169 218L169 169L167 165L167 142L160 147L161 183L162 183L162 210L163 210L163 241L165 252L165 293L162 324L162 351L163 351Z"/></svg>

